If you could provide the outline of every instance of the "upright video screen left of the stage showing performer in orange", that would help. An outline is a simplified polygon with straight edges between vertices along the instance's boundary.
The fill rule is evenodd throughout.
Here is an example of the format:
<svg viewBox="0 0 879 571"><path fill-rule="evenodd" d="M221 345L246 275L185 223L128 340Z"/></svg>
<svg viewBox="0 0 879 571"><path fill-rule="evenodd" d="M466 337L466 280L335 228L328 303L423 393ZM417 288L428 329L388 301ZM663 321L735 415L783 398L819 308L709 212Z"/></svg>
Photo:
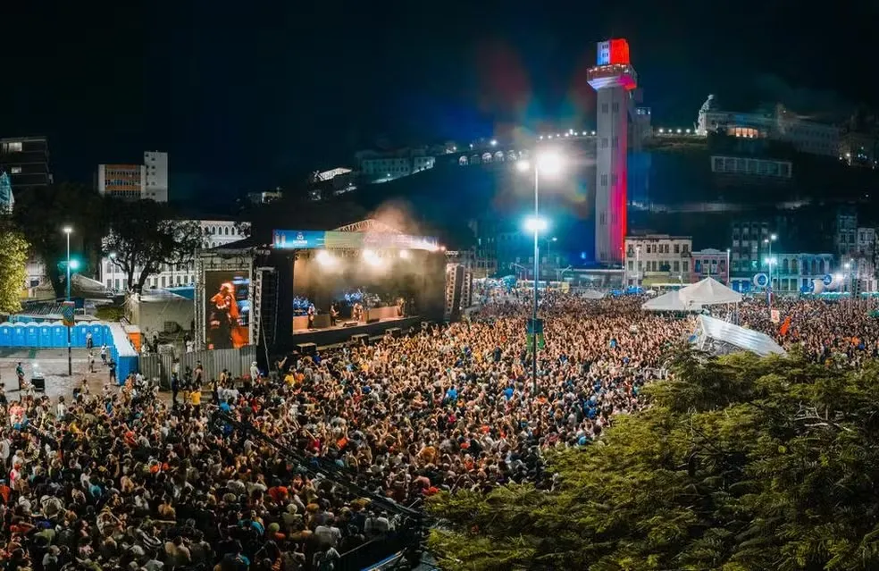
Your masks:
<svg viewBox="0 0 879 571"><path fill-rule="evenodd" d="M246 271L205 271L205 346L241 348L250 329L250 276Z"/></svg>

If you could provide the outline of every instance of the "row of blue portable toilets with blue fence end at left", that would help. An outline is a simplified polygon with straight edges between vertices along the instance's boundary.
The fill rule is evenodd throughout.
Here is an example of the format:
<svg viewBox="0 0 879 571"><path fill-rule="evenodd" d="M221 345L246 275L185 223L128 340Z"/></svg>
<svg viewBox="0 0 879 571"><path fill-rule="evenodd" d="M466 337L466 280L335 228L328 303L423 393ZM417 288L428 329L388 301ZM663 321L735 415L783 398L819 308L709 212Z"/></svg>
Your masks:
<svg viewBox="0 0 879 571"><path fill-rule="evenodd" d="M78 323L71 328L71 347L86 348L88 333L96 351L107 346L120 383L130 373L138 372L138 354L120 323ZM0 323L0 348L67 348L67 327L60 321Z"/></svg>

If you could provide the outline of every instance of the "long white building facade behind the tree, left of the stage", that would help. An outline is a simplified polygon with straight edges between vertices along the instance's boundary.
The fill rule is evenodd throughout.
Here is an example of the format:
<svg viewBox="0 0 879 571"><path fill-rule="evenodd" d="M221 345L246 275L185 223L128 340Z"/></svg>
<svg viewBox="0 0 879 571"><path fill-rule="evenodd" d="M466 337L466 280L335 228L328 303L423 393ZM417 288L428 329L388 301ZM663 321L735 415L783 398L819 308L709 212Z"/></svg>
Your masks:
<svg viewBox="0 0 879 571"><path fill-rule="evenodd" d="M202 229L202 248L217 248L247 238L249 228L229 220L200 220ZM141 269L136 268L134 278L137 280ZM129 288L128 276L113 264L109 257L101 259L99 280L110 290L125 291ZM147 277L145 290L187 287L196 282L195 262L187 264L163 265L159 273Z"/></svg>

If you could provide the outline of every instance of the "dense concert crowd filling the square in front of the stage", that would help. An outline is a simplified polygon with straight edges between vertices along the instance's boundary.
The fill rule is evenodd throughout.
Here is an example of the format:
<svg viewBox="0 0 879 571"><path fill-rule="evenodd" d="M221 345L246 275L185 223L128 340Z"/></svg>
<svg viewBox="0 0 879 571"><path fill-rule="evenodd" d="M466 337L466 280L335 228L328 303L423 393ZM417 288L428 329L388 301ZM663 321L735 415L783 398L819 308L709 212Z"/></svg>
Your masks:
<svg viewBox="0 0 879 571"><path fill-rule="evenodd" d="M267 376L208 379L197 367L180 401L138 377L99 394L83 384L57 403L10 396L0 407L7 571L332 569L393 533L397 517L376 499L417 506L439 491L551 486L545 451L586 446L644 407L641 388L695 326L643 312L637 297L550 291L535 382L530 293L485 299L460 323L292 356ZM777 329L765 309L743 306L742 321ZM855 332L838 309L791 303L784 342L875 348L868 318Z"/></svg>

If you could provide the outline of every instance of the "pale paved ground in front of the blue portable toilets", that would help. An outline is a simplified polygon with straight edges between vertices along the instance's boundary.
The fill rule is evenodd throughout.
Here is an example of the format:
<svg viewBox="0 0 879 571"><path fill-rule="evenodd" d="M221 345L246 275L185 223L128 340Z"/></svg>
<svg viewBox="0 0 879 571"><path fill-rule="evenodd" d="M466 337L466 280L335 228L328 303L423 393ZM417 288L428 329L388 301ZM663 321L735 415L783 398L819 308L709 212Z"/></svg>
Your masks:
<svg viewBox="0 0 879 571"><path fill-rule="evenodd" d="M100 349L95 351L95 373L88 372L88 350L75 348L72 351L73 376L67 374L67 349L35 349L35 348L0 348L0 382L5 384L6 398L18 399L18 382L15 367L21 362L24 367L24 378L30 379L34 366L46 378L46 395L56 401L59 396L70 400L73 388L79 386L82 379L88 380L91 394L100 394L104 385L110 380L109 369L101 363ZM37 393L40 394L39 392Z"/></svg>

